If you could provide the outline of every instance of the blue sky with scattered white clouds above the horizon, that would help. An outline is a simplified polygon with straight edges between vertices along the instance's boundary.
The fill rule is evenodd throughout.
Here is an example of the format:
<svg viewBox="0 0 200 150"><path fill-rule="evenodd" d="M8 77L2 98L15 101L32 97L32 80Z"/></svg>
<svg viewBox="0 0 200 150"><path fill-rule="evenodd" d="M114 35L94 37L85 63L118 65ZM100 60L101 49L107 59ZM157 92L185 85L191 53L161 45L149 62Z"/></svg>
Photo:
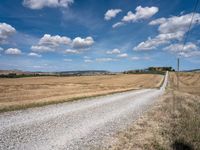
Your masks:
<svg viewBox="0 0 200 150"><path fill-rule="evenodd" d="M200 68L196 0L1 0L0 69ZM195 12L194 12L195 10ZM185 44L184 44L185 43Z"/></svg>

